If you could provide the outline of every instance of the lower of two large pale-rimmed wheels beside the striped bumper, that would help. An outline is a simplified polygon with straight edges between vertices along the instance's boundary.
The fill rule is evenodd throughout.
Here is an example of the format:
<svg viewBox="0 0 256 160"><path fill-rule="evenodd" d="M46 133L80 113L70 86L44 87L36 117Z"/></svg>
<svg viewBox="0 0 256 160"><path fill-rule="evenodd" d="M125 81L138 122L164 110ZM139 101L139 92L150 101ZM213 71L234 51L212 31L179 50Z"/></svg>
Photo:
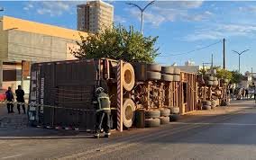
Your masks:
<svg viewBox="0 0 256 160"><path fill-rule="evenodd" d="M135 118L135 103L132 99L123 99L123 126L131 128Z"/></svg>

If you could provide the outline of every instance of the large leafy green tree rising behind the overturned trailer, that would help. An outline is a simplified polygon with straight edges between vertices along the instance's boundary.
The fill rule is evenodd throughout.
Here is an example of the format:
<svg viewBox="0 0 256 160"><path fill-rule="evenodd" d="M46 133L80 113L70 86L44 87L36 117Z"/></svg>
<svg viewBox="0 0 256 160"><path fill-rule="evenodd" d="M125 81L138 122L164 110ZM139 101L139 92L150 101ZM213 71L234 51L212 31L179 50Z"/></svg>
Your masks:
<svg viewBox="0 0 256 160"><path fill-rule="evenodd" d="M155 49L158 37L143 37L130 27L123 26L106 29L100 33L89 34L87 38L80 35L77 41L80 49L71 50L76 58L114 58L128 62L152 63L160 55Z"/></svg>

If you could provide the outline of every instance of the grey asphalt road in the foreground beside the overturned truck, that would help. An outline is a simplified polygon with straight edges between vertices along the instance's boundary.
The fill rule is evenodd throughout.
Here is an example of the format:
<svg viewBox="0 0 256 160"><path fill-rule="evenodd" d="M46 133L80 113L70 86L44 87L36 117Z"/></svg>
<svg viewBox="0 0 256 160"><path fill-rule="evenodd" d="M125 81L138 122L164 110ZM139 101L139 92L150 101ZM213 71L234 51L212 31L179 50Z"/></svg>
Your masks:
<svg viewBox="0 0 256 160"><path fill-rule="evenodd" d="M41 130L26 130L34 131ZM160 128L114 133L112 138L41 132L45 134L36 137L24 132L8 137L2 132L0 159L256 159L256 107L252 101L197 111Z"/></svg>

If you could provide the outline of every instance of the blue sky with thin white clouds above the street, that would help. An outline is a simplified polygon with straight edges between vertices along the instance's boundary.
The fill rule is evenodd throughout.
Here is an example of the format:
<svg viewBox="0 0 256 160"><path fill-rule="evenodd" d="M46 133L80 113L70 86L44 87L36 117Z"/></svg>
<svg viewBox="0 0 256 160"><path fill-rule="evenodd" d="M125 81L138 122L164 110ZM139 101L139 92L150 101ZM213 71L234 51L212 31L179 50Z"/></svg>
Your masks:
<svg viewBox="0 0 256 160"><path fill-rule="evenodd" d="M107 2L107 1L106 1ZM114 23L140 30L141 17L128 1L108 1L114 5ZM86 1L0 1L2 15L77 29L77 4ZM133 1L144 6L149 1ZM226 67L238 70L233 50L250 49L241 56L241 71L256 72L256 2L244 1L156 1L144 12L144 35L159 36L156 44L162 65L196 65L211 62L223 66L225 39ZM212 45L214 44L214 45ZM209 46L209 47L207 47ZM206 47L206 48L205 48ZM205 48L205 49L202 49ZM190 52L191 50L196 50ZM255 61L254 61L255 60Z"/></svg>

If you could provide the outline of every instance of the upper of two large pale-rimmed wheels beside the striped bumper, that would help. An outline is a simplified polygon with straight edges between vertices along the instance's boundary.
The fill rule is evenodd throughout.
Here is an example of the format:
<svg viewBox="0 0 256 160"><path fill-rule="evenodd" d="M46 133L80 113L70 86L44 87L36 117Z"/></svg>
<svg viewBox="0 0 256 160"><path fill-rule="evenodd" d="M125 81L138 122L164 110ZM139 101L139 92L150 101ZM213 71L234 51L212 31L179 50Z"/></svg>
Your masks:
<svg viewBox="0 0 256 160"><path fill-rule="evenodd" d="M123 65L123 88L126 91L132 91L135 84L135 74L133 66L130 63Z"/></svg>

